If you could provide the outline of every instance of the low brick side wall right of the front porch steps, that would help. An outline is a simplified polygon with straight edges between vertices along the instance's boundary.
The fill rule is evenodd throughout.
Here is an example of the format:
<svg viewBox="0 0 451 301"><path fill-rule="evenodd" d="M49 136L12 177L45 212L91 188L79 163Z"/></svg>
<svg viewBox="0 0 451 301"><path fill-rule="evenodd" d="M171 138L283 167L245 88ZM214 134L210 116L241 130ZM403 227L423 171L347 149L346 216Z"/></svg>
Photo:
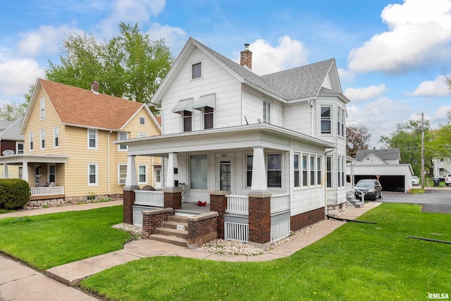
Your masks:
<svg viewBox="0 0 451 301"><path fill-rule="evenodd" d="M218 238L218 213L209 212L190 216L188 221L188 247L195 249Z"/></svg>

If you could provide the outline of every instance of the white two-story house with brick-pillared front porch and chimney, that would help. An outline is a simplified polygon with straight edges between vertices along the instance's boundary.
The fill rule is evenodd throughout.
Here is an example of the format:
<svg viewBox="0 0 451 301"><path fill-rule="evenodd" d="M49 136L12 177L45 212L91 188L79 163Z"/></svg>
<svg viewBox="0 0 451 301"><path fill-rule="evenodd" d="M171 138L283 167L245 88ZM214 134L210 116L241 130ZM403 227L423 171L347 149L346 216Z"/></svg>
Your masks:
<svg viewBox="0 0 451 301"><path fill-rule="evenodd" d="M350 100L335 59L259 76L245 46L238 64L188 39L152 98L161 136L121 143L128 145L127 171L136 156L165 158L164 207L177 214L206 202L219 212L220 237L266 243L346 202ZM135 188L130 173L125 190ZM128 196L124 216L140 203L132 194L129 204ZM223 212L213 204L218 198Z"/></svg>

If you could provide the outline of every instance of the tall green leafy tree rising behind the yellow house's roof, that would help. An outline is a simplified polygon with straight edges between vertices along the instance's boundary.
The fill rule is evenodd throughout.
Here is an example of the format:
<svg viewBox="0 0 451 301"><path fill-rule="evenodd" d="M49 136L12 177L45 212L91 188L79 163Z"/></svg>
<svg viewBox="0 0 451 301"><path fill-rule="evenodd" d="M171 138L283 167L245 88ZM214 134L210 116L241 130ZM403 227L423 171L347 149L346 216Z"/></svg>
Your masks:
<svg viewBox="0 0 451 301"><path fill-rule="evenodd" d="M61 64L49 61L48 80L149 103L174 61L164 39L152 41L134 26L120 23L121 35L99 42L92 35L66 35Z"/></svg>

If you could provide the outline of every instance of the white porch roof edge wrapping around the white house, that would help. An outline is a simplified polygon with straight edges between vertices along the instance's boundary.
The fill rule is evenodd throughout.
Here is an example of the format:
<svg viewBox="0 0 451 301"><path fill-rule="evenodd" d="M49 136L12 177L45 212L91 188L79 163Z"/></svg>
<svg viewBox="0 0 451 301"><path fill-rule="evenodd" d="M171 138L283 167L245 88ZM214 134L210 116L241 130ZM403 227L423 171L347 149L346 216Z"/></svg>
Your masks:
<svg viewBox="0 0 451 301"><path fill-rule="evenodd" d="M329 142L267 123L121 140L121 144L128 145L128 154L130 155L167 156L169 152L252 147L288 151L291 140L320 147L333 147Z"/></svg>

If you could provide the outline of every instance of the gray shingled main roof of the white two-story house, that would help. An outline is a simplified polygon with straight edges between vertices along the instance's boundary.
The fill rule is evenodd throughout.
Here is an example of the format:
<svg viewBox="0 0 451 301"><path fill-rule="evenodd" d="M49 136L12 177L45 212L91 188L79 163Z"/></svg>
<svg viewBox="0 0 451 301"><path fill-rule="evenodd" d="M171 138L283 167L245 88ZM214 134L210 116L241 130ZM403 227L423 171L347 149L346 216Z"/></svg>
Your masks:
<svg viewBox="0 0 451 301"><path fill-rule="evenodd" d="M247 82L286 100L316 97L321 90L321 85L330 70L330 66L335 62L335 59L328 59L306 66L259 76L239 63L235 63L226 58L226 56L206 47L197 40L193 40Z"/></svg>

